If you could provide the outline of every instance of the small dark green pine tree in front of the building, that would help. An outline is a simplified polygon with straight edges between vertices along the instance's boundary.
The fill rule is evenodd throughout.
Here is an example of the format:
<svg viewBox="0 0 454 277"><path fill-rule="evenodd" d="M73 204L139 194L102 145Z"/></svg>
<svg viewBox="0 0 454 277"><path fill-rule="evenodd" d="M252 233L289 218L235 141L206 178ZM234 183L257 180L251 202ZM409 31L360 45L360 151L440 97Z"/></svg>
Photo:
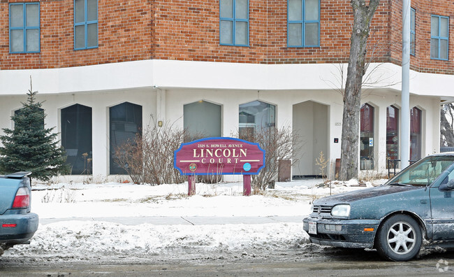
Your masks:
<svg viewBox="0 0 454 277"><path fill-rule="evenodd" d="M27 93L27 102L18 113L11 116L14 129L3 128L0 136L3 146L0 147L0 171L13 173L31 171L31 177L39 180L50 180L58 174L69 173L66 164L66 152L59 146L54 128L43 126L45 113L42 102L36 102L36 94L31 87Z"/></svg>

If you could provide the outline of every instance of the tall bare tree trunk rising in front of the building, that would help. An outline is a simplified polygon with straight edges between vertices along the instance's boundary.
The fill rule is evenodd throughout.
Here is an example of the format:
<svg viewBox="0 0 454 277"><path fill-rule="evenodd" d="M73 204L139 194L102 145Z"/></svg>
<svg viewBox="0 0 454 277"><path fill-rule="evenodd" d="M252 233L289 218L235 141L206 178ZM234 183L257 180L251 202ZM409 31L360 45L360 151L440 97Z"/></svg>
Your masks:
<svg viewBox="0 0 454 277"><path fill-rule="evenodd" d="M344 92L342 118L342 143L340 180L358 178L358 150L361 86L365 74L365 58L369 26L379 0L352 0L353 30L351 33L350 59Z"/></svg>

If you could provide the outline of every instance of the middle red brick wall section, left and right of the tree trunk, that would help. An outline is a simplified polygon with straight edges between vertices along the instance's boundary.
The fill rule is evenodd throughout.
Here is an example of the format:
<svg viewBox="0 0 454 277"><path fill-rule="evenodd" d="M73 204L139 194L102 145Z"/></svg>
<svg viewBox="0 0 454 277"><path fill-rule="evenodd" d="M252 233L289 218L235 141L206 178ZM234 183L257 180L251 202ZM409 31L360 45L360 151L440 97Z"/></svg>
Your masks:
<svg viewBox="0 0 454 277"><path fill-rule="evenodd" d="M390 0L389 0L390 1ZM320 47L287 47L287 0L249 1L249 47L219 45L219 0L156 3L156 59L265 64L338 63L349 57L350 1L321 1ZM372 25L370 45L388 41L388 1ZM381 46L379 55L388 56Z"/></svg>

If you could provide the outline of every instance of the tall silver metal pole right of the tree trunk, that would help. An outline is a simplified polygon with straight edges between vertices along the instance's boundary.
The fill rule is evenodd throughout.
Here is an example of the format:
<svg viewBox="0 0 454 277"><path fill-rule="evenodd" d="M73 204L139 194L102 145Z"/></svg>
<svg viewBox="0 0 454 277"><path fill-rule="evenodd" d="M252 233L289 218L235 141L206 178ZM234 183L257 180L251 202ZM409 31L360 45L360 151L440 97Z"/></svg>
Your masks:
<svg viewBox="0 0 454 277"><path fill-rule="evenodd" d="M400 168L410 159L410 21L411 0L402 2L402 115L400 117Z"/></svg>

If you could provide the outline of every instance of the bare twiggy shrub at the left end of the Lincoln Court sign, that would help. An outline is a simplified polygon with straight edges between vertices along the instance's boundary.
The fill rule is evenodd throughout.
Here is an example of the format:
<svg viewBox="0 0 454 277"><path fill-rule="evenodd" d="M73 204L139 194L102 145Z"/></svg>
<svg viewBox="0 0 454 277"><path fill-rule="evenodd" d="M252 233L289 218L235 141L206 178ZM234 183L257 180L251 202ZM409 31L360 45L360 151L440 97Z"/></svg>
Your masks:
<svg viewBox="0 0 454 277"><path fill-rule="evenodd" d="M117 147L116 162L136 184L183 183L184 176L173 167L173 155L183 142L184 130L168 122L162 127L155 120L152 122L153 126L148 126L142 136Z"/></svg>

